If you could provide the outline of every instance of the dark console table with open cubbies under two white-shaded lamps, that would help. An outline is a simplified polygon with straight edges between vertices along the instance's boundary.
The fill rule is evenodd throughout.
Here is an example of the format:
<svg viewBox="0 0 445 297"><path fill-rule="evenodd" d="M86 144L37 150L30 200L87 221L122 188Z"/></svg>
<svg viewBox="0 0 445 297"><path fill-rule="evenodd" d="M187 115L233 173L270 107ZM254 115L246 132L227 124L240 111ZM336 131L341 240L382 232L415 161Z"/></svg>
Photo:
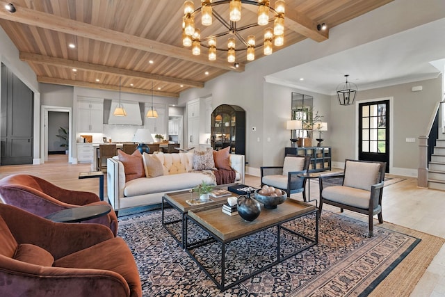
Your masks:
<svg viewBox="0 0 445 297"><path fill-rule="evenodd" d="M331 147L286 147L284 156L311 156L309 172L331 170Z"/></svg>

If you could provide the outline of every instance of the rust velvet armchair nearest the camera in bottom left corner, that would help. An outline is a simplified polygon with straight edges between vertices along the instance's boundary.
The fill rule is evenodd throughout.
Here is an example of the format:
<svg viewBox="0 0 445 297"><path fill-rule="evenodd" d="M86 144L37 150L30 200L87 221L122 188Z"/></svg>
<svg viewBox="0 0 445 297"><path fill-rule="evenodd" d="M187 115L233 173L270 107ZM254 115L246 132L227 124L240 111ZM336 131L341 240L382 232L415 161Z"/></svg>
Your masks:
<svg viewBox="0 0 445 297"><path fill-rule="evenodd" d="M0 295L142 296L127 243L98 224L54 223L0 203Z"/></svg>

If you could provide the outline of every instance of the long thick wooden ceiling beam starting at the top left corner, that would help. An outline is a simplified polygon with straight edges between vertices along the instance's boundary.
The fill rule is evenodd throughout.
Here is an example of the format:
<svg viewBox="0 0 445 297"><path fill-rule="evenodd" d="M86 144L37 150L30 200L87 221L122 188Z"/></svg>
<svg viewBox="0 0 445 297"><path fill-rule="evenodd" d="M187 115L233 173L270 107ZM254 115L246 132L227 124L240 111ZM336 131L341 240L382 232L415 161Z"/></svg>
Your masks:
<svg viewBox="0 0 445 297"><path fill-rule="evenodd" d="M0 7L4 7L6 4L7 2L0 1ZM23 6L15 5L15 8L17 9L15 13L9 13L5 9L0 9L0 18L31 26L38 26L44 29L77 35L84 38L100 40L113 45L121 45L123 47L140 49L142 51L148 51L154 54L179 58L181 60L191 61L193 63L218 67L224 70L236 72L244 71L244 64L241 63L239 64L239 67L235 68L232 64L227 62L209 61L206 56L193 56L189 49L174 47L156 40L149 40L119 31L92 26L91 24L79 22L74 19L67 19L65 17L59 17L49 13L42 13Z"/></svg>

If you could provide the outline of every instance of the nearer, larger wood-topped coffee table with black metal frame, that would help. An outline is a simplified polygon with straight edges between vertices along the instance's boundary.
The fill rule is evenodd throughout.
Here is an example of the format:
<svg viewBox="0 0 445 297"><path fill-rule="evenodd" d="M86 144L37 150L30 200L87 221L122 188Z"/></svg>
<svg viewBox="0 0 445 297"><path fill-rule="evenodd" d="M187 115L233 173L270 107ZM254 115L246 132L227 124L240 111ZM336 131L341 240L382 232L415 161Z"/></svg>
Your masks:
<svg viewBox="0 0 445 297"><path fill-rule="evenodd" d="M309 238L309 236L305 234L300 234L294 230L290 230L287 227L284 227L282 224L289 222L290 220L296 220L302 216L312 215L315 218L315 230L314 230L314 238ZM201 227L202 230L207 232L212 241L207 240L207 242L193 242L188 243L188 228L187 225L189 223L195 223L197 226ZM245 236L249 236L251 234L264 231L268 228L276 227L277 228L277 253L276 260L261 266L261 268L253 271L249 275L245 275L243 277L238 278L234 282L229 284L225 284L225 264L227 259L229 259L229 255L226 255L226 245L236 239L241 239ZM188 255L196 262L200 268L215 282L218 289L221 291L225 291L226 289L239 284L251 278L253 275L257 275L266 269L283 262L285 259L289 259L294 255L297 255L299 252L303 250L307 250L311 246L314 246L318 243L318 210L312 204L308 204L306 202L300 202L296 200L287 199L283 204L278 205L277 209L261 209L261 214L259 217L253 222L247 222L241 218L241 216L227 216L223 214L221 211L220 205L213 205L212 207L206 209L193 209L188 211L186 214L186 222L185 222L185 250ZM281 239L283 230L285 232L289 232L292 236L298 236L304 239L305 244L301 244L300 248L296 248L293 252L284 255L284 250L281 249ZM294 238L294 237L293 237ZM221 246L221 259L220 259L220 275L212 275L212 273L207 269L204 264L200 263L200 261L193 255L193 250L195 248L200 248L206 244L214 243L218 241ZM255 243L254 243L255 244ZM261 245L261 243L257 243ZM236 252L235 252L236 254ZM233 255L233 251L232 251ZM235 256L234 256L235 257ZM218 271L218 268L213 267L213 271ZM218 274L218 273L216 273ZM218 279L220 281L218 281Z"/></svg>

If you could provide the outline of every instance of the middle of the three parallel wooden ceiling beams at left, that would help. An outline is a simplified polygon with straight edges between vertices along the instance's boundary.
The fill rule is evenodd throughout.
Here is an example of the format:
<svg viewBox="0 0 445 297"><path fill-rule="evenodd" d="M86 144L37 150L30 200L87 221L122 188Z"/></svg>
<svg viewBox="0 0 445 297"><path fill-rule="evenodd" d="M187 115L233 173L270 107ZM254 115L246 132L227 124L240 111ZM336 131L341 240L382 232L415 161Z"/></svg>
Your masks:
<svg viewBox="0 0 445 297"><path fill-rule="evenodd" d="M20 52L20 60L32 63L54 65L59 67L76 68L76 69L88 70L92 72L100 72L105 74L116 74L121 77L136 77L140 79L163 81L166 83L177 83L178 85L190 86L193 88L204 88L204 83L202 83L201 81L192 81L190 79L177 79L176 77L165 77L159 74L150 74L147 72L133 71L118 67L110 67L110 66L92 64L86 62L79 62L63 58L54 58L50 56L42 56L39 54L31 54L26 52Z"/></svg>

